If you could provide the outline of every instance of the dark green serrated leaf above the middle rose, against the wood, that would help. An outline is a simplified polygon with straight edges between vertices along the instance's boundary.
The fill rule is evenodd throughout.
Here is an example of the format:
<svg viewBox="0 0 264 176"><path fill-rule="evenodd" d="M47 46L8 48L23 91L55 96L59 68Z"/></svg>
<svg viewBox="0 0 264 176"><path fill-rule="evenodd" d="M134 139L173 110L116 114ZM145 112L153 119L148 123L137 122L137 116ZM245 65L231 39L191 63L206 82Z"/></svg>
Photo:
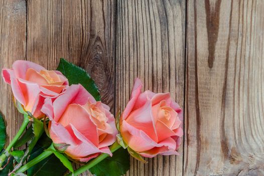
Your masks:
<svg viewBox="0 0 264 176"><path fill-rule="evenodd" d="M96 101L100 101L100 94L90 75L83 69L80 68L65 59L61 58L57 68L58 71L62 72L69 80L69 84L82 84L84 88L95 98Z"/></svg>

